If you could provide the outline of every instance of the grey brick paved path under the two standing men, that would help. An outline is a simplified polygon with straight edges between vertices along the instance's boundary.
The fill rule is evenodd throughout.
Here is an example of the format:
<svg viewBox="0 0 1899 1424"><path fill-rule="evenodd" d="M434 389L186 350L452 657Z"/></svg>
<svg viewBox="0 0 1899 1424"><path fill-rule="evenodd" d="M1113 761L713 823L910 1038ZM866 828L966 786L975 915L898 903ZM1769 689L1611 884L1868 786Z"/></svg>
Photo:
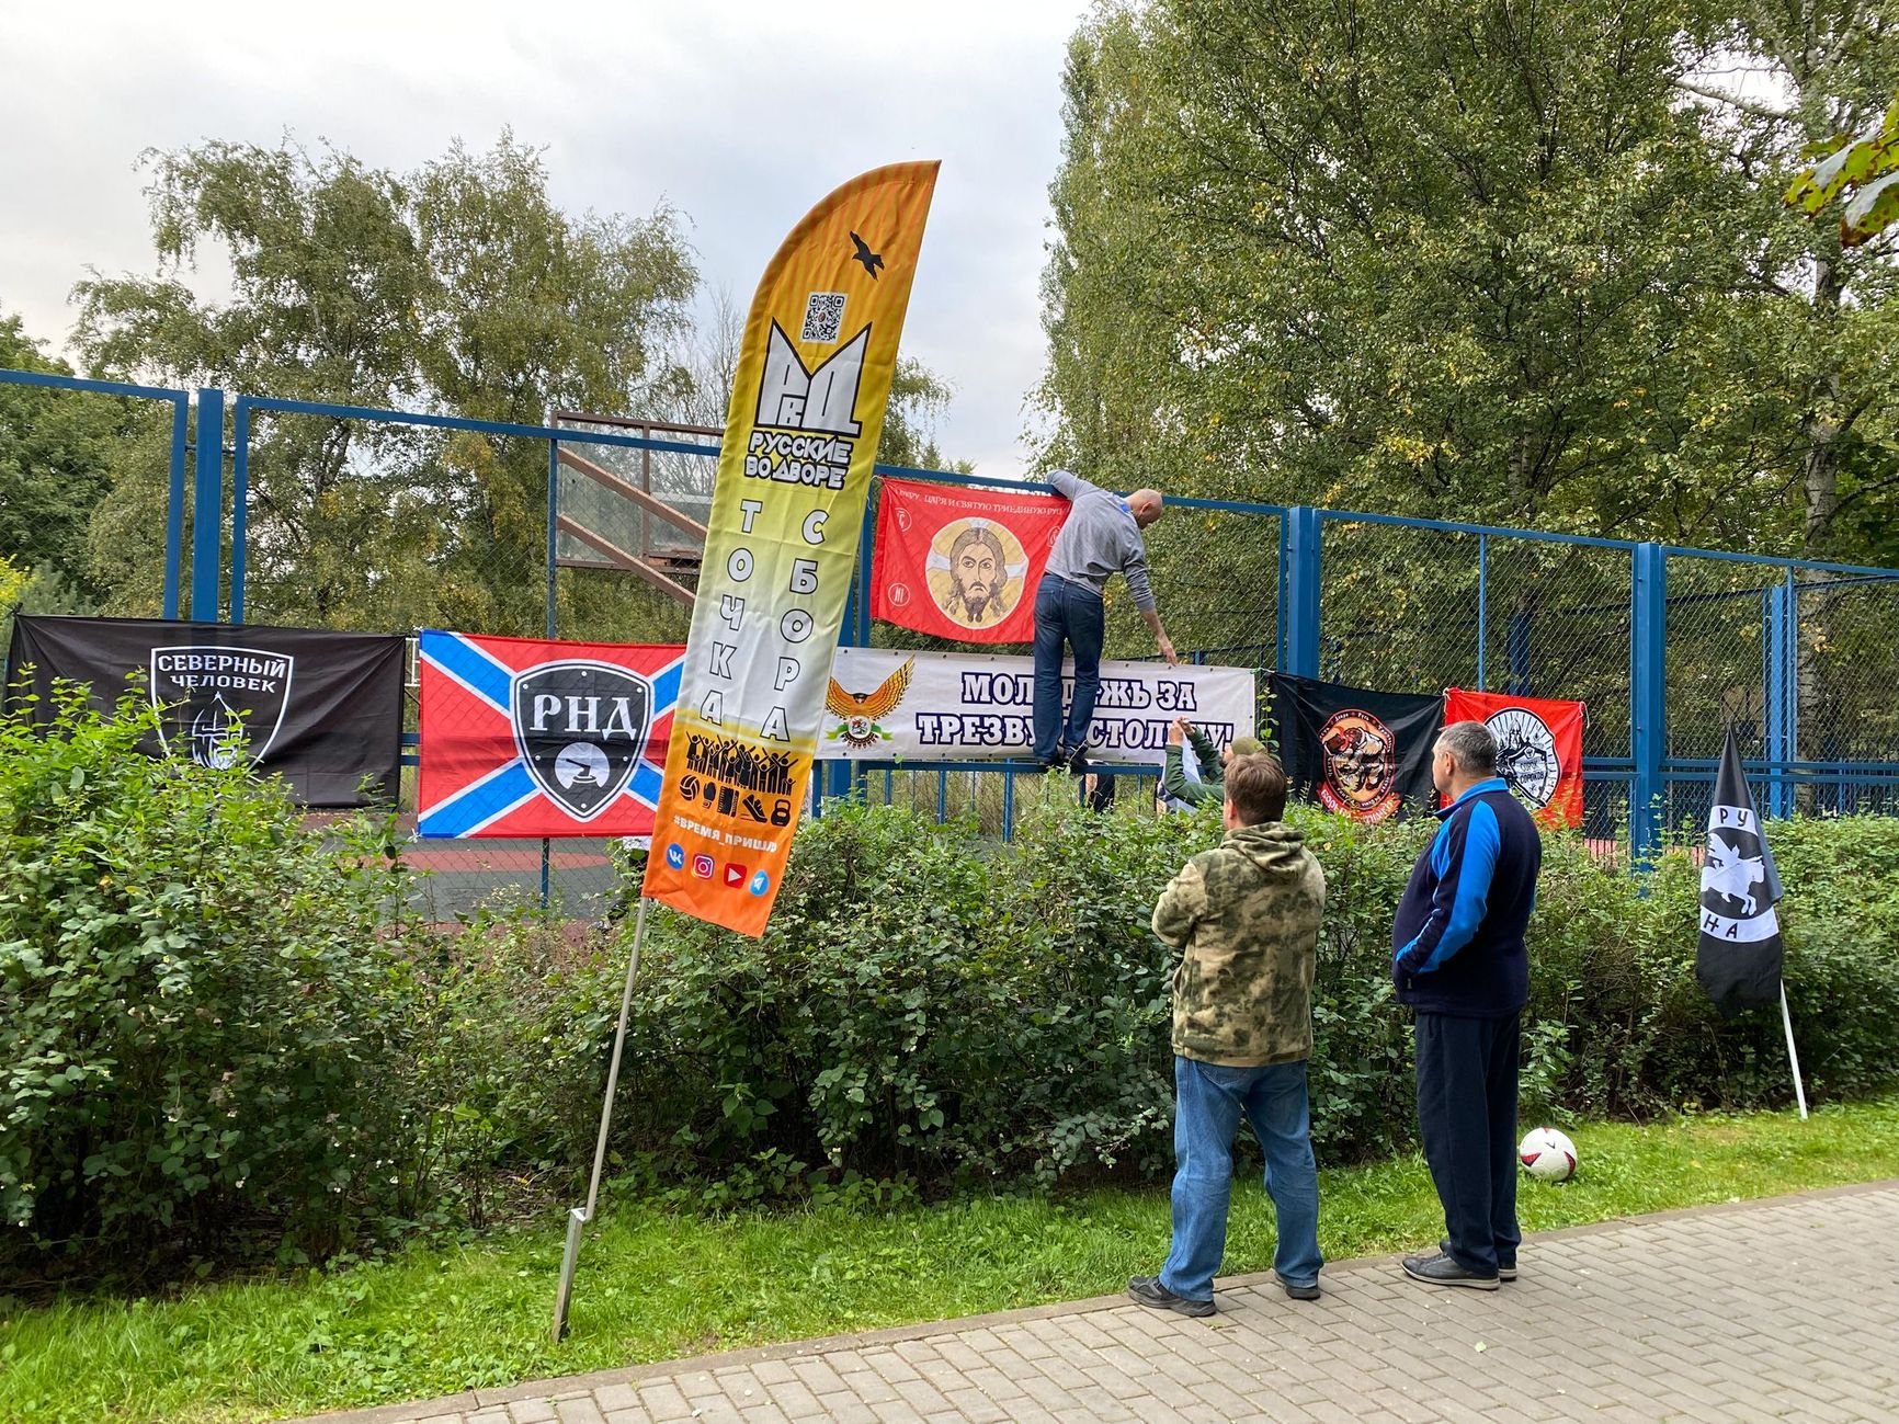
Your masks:
<svg viewBox="0 0 1899 1424"><path fill-rule="evenodd" d="M541 1380L327 1424L1899 1418L1899 1181L1546 1232L1493 1295L1326 1268Z"/></svg>

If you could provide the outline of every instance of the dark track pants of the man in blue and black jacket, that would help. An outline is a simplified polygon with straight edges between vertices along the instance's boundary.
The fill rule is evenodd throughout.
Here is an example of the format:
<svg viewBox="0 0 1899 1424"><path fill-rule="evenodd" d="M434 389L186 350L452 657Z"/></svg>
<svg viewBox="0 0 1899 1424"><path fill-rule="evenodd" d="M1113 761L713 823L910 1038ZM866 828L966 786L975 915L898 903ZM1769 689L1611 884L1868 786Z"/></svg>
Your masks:
<svg viewBox="0 0 1899 1424"><path fill-rule="evenodd" d="M1466 1270L1517 1263L1519 1016L1417 1016L1419 1135Z"/></svg>

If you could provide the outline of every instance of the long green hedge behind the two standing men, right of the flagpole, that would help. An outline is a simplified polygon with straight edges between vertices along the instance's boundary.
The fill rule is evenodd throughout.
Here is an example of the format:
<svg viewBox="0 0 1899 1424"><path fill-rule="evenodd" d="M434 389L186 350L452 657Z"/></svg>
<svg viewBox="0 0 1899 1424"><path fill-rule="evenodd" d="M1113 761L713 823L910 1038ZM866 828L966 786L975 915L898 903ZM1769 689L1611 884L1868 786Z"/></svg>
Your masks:
<svg viewBox="0 0 1899 1424"><path fill-rule="evenodd" d="M1411 1035L1390 917L1436 822L1363 828L1295 809L1329 900L1314 987L1314 1139L1327 1160L1413 1135ZM1010 845L902 809L834 807L799 832L761 940L655 911L617 1143L716 1198L799 1177L931 1187L1170 1162L1172 955L1147 932L1168 875L1219 834L1035 805ZM1893 1077L1899 822L1779 826L1787 980L1814 1096ZM1546 837L1525 1021L1527 1116L1758 1107L1791 1097L1779 1018L1722 1023L1694 982L1698 871L1646 877ZM596 1008L568 1063L598 1063L617 951L568 976ZM577 1021L577 1018L573 1018ZM591 1037L591 1048L585 1039ZM598 1090L600 1075L594 1084ZM573 1096L575 1101L583 1094Z"/></svg>

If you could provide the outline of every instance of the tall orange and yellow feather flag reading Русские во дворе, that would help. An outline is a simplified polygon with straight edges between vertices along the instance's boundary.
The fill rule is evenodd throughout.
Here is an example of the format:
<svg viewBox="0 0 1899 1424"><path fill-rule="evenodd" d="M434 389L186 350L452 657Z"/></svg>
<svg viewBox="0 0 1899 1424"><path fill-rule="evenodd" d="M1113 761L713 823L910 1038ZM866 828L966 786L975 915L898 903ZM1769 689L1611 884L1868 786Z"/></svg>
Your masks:
<svg viewBox="0 0 1899 1424"><path fill-rule="evenodd" d="M752 298L646 894L761 934L811 782L936 163L837 188Z"/></svg>

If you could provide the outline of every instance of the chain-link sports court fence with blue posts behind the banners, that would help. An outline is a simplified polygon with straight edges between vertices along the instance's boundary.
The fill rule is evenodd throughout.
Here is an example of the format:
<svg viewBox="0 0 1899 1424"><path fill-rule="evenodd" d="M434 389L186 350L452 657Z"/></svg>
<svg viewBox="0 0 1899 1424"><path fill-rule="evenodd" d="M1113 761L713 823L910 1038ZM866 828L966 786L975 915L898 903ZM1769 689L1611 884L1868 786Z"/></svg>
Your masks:
<svg viewBox="0 0 1899 1424"><path fill-rule="evenodd" d="M230 418L213 444L199 408ZM256 397L226 410L218 391L0 372L0 556L13 583L30 575L34 611L676 644L718 435L573 412L539 427ZM199 492L220 490L226 518L194 524ZM1593 839L1627 834L1637 788L1656 811L1633 816L1639 843L1698 837L1728 727L1772 813L1899 813L1899 573L1204 499L1174 501L1147 547L1183 659L1582 701ZM955 647L856 600L845 642ZM1156 655L1119 585L1105 655ZM1025 794L999 767L843 780L1001 834ZM1122 775L1120 799L1149 805L1153 784ZM412 765L403 790L414 816ZM444 915L543 894L594 915L613 889L604 841L435 841L418 862Z"/></svg>

